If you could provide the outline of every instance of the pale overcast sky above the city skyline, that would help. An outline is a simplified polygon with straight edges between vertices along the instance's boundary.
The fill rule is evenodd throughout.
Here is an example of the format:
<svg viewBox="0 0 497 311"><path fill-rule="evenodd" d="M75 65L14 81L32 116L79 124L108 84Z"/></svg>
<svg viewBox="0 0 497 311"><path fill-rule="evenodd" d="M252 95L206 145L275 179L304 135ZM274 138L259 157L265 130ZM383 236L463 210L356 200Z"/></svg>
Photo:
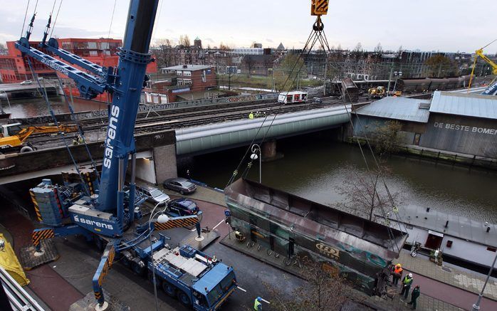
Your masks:
<svg viewBox="0 0 497 311"><path fill-rule="evenodd" d="M57 11L57 0L55 11ZM129 0L116 0L110 37L122 38ZM0 42L19 38L28 0L0 0ZM36 0L31 0L28 20ZM115 0L63 0L53 34L64 38L107 37ZM38 0L34 40L41 39L53 0ZM309 0L160 0L152 39L177 41L187 34L202 39L204 47L302 48L315 17ZM368 50L399 46L422 51L474 52L497 38L496 0L330 0L323 17L330 46ZM55 13L54 13L55 16ZM27 23L28 21L26 21ZM497 42L485 53L497 53Z"/></svg>

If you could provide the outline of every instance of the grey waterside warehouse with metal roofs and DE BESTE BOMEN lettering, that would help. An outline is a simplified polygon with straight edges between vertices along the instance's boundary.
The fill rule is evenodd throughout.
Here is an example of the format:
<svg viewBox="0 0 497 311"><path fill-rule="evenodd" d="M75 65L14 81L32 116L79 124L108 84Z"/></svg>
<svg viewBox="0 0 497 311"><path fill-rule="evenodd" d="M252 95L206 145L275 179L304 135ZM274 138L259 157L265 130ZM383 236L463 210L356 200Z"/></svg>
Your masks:
<svg viewBox="0 0 497 311"><path fill-rule="evenodd" d="M497 158L497 97L436 91L431 100L386 97L359 108L354 135L368 136L389 120L402 142L423 148Z"/></svg>

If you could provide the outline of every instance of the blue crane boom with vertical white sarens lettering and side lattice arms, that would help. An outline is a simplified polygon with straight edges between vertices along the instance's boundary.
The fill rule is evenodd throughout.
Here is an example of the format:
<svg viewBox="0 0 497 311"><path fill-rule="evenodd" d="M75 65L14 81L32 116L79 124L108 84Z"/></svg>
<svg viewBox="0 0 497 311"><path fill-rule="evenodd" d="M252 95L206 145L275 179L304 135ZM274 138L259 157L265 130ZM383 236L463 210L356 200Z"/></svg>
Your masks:
<svg viewBox="0 0 497 311"><path fill-rule="evenodd" d="M151 61L148 52L157 3L158 0L130 1L125 38L122 48L117 53L120 56L117 68L101 68L88 60L83 60L79 56L59 49L54 38L49 39L48 43L45 43L45 40L42 41L41 48L47 48L48 51L68 63L79 65L89 70L93 75L31 47L27 37L21 38L16 43L16 48L23 54L31 56L75 80L82 97L90 99L106 91L113 93L113 102L109 110L108 131L105 138L100 194L98 202L94 206L100 211L111 213L117 211L120 226L115 227L116 229L120 228L120 230L108 233L111 236L120 235L124 226L122 223L124 218L122 207L124 192L122 188L128 157L132 155L132 159L135 159L133 133L140 94L145 80L145 70ZM134 163L132 165L134 169ZM132 198L135 194L133 184L134 181L132 181L130 191Z"/></svg>

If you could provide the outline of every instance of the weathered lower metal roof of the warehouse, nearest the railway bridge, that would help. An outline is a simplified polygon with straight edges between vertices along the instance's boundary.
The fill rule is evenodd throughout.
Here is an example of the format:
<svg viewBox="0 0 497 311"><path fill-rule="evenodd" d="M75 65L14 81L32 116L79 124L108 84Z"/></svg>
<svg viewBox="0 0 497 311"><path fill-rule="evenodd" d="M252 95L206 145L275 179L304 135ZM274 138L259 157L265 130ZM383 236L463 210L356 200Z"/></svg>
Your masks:
<svg viewBox="0 0 497 311"><path fill-rule="evenodd" d="M405 97L384 97L381 100L361 107L357 115L370 115L372 117L386 117L395 120L406 120L427 123L429 110L419 108L419 104L429 104L429 100L418 100Z"/></svg>

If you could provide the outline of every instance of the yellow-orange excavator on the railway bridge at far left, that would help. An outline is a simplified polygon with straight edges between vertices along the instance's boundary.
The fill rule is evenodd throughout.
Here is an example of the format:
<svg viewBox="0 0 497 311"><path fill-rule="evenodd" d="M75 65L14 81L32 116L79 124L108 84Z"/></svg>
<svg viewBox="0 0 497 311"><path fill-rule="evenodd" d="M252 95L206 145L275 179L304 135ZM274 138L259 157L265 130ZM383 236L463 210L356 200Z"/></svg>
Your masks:
<svg viewBox="0 0 497 311"><path fill-rule="evenodd" d="M25 127L21 128L20 123L0 126L0 152L28 152L33 151L33 147L25 144L26 139L31 134L37 133L58 133L58 132L78 132L77 125L59 125L58 127Z"/></svg>

